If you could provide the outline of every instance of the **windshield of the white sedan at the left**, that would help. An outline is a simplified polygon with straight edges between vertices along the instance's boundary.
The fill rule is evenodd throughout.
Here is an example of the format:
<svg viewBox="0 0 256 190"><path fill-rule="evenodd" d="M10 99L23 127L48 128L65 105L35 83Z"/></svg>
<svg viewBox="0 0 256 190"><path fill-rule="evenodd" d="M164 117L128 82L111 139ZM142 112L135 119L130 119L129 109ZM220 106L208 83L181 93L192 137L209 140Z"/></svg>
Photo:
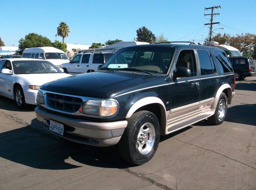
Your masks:
<svg viewBox="0 0 256 190"><path fill-rule="evenodd" d="M13 61L15 74L62 73L48 61Z"/></svg>

